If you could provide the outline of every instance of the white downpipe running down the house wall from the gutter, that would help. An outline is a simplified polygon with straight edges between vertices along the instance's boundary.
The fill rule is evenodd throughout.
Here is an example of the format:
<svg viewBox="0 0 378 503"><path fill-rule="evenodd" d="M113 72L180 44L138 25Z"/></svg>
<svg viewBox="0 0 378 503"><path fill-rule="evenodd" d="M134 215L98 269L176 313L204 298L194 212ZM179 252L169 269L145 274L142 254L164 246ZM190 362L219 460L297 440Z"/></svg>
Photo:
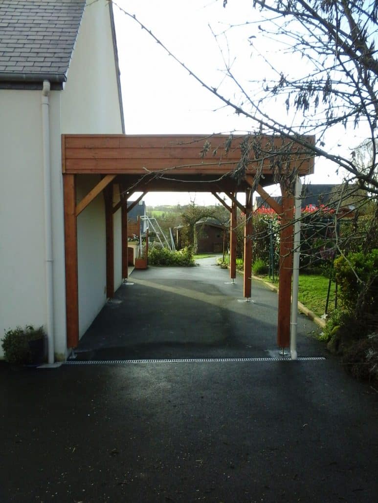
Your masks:
<svg viewBox="0 0 378 503"><path fill-rule="evenodd" d="M52 209L51 209L51 163L50 163L50 120L49 120L50 82L43 81L42 88L42 141L43 141L43 192L45 215L45 274L48 364L54 363L54 301L52 277Z"/></svg>

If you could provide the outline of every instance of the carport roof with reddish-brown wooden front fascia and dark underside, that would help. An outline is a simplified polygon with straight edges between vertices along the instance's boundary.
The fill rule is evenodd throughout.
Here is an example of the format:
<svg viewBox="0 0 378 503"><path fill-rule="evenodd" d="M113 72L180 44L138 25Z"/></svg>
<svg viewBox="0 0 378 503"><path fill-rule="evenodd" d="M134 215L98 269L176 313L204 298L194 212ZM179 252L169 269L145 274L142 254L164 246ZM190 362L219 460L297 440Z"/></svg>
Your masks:
<svg viewBox="0 0 378 503"><path fill-rule="evenodd" d="M313 144L312 136L303 137ZM135 191L244 192L235 170L261 171L260 185L275 183L274 169L313 173L313 154L298 141L279 136L229 135L63 135L62 172L116 175L115 183Z"/></svg>

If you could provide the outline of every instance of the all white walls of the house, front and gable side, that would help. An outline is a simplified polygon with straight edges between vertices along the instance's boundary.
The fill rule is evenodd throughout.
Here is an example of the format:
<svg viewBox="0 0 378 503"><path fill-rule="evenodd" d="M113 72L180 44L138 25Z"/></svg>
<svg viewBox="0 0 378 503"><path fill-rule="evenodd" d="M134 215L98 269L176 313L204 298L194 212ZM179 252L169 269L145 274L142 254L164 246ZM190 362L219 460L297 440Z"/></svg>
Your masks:
<svg viewBox="0 0 378 503"><path fill-rule="evenodd" d="M84 13L64 91L50 93L55 354L66 357L61 133L122 133L109 9ZM0 339L4 329L46 323L41 91L0 90ZM99 177L78 177L78 199ZM115 199L117 196L115 196ZM120 211L114 216L115 286L121 280ZM102 194L78 217L80 334L106 295ZM3 355L0 346L0 357Z"/></svg>

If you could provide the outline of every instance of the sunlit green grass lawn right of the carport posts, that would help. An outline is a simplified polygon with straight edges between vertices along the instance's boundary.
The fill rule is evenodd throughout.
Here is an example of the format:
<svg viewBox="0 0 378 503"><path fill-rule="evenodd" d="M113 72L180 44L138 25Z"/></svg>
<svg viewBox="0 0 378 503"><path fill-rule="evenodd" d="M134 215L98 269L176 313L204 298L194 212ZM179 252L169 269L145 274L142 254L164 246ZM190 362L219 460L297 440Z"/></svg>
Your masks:
<svg viewBox="0 0 378 503"><path fill-rule="evenodd" d="M269 281L268 276L262 277L264 281ZM322 316L325 313L327 292L328 292L329 279L325 276L318 276L314 274L300 274L299 275L299 291L298 300L310 311L314 312L317 316ZM274 282L278 285L278 281ZM330 300L328 304L328 313L335 308L335 283L331 284Z"/></svg>

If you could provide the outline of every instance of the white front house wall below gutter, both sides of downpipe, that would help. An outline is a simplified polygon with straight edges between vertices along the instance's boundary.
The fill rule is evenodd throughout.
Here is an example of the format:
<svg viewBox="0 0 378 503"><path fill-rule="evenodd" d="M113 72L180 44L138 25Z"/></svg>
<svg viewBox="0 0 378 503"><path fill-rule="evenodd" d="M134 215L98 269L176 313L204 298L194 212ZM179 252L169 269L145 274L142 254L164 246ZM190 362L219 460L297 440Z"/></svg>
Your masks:
<svg viewBox="0 0 378 503"><path fill-rule="evenodd" d="M60 93L49 97L54 277L54 341L66 356ZM0 92L0 338L17 325L46 329L41 91ZM0 348L0 357L3 356Z"/></svg>

